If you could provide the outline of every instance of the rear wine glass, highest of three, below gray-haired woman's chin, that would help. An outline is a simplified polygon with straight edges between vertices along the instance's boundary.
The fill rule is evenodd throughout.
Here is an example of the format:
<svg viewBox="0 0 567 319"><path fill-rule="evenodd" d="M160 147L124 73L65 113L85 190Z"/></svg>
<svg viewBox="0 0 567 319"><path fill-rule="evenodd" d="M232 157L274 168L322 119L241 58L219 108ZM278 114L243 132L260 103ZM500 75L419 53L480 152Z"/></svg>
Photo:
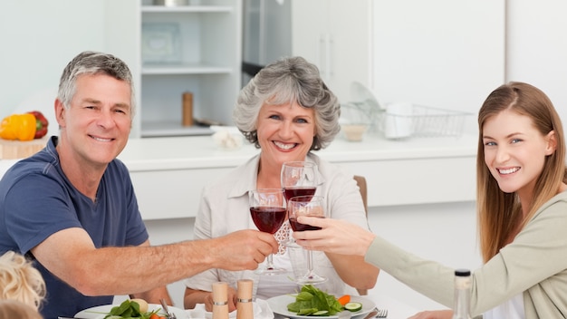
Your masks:
<svg viewBox="0 0 567 319"><path fill-rule="evenodd" d="M287 161L282 165L281 184L285 198L312 196L318 185L317 164L310 161ZM303 198L308 200L310 198ZM286 246L299 247L293 237L285 242Z"/></svg>

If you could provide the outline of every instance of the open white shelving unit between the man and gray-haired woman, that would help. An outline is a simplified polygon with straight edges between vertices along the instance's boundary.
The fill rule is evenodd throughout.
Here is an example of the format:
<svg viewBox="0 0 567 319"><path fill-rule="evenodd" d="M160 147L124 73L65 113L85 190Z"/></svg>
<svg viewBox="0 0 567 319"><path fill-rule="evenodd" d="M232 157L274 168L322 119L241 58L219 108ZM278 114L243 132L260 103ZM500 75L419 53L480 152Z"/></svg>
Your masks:
<svg viewBox="0 0 567 319"><path fill-rule="evenodd" d="M136 78L133 137L208 133L182 125L184 92L193 94L195 119L232 122L241 88L241 1L161 6L107 0L105 5L107 51L129 63Z"/></svg>

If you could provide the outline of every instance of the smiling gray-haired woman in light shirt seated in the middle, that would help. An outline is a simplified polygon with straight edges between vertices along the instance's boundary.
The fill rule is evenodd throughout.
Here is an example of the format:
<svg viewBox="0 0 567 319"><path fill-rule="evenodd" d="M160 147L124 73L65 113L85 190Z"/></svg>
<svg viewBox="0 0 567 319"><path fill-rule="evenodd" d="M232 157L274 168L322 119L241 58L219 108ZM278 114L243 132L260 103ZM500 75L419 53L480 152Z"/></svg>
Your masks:
<svg viewBox="0 0 567 319"><path fill-rule="evenodd" d="M245 138L260 153L236 168L224 179L208 185L195 221L195 237L222 236L238 229L255 228L250 218L248 191L280 189L283 162L304 160L317 164L322 184L316 195L325 198L331 218L347 219L368 229L359 189L352 175L321 160L312 150L322 150L340 131L340 104L322 81L319 70L302 57L283 58L265 66L238 96L233 119ZM287 223L275 237L282 243L289 234ZM276 266L292 271L290 249L274 256ZM295 248L298 249L298 248ZM335 295L355 295L354 288L370 289L379 269L361 256L317 253L315 270L329 278L318 287ZM290 274L256 275L252 271L229 272L221 269L186 280L185 307L206 304L212 308L211 284L234 284L240 278L255 279L255 297L267 299L297 291ZM235 290L229 289L229 309L235 309Z"/></svg>

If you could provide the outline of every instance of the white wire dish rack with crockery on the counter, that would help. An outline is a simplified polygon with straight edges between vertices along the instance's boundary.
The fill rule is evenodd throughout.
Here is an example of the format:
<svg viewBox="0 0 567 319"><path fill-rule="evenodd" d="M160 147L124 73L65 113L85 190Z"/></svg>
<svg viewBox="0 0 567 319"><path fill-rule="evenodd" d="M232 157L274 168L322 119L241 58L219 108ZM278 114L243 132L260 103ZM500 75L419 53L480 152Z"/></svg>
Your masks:
<svg viewBox="0 0 567 319"><path fill-rule="evenodd" d="M380 132L384 133L385 125L388 121L407 121L411 128L408 136L411 137L459 137L465 129L466 118L471 115L473 113L466 111L454 111L413 104L411 114L408 115L389 113L384 110L380 111L377 115L377 127ZM396 130L396 128L389 128L389 130ZM403 133L399 132L397 136L402 135Z"/></svg>

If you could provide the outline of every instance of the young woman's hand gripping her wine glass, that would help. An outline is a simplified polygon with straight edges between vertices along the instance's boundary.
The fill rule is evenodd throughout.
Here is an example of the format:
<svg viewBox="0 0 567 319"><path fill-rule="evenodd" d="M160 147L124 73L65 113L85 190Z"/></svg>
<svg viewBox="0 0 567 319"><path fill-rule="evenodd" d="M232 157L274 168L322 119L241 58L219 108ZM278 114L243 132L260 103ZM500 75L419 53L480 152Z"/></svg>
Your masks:
<svg viewBox="0 0 567 319"><path fill-rule="evenodd" d="M301 216L297 221L321 230L293 232L297 244L306 249L322 250L341 255L364 256L376 235L341 219L309 218Z"/></svg>

